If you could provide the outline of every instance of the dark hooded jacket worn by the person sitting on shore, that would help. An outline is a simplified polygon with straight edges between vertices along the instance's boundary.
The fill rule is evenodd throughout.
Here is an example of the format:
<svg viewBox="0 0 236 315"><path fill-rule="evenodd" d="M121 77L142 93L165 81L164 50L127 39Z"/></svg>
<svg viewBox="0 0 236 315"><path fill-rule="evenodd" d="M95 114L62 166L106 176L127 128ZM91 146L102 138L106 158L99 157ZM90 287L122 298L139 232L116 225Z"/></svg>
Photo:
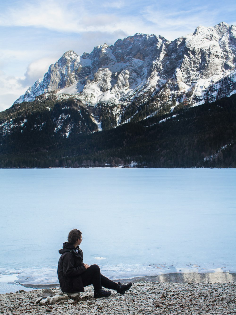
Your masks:
<svg viewBox="0 0 236 315"><path fill-rule="evenodd" d="M78 249L78 253L76 251ZM68 243L63 243L59 250L60 259L57 266L57 276L62 292L84 292L80 274L86 271L83 265L83 252Z"/></svg>

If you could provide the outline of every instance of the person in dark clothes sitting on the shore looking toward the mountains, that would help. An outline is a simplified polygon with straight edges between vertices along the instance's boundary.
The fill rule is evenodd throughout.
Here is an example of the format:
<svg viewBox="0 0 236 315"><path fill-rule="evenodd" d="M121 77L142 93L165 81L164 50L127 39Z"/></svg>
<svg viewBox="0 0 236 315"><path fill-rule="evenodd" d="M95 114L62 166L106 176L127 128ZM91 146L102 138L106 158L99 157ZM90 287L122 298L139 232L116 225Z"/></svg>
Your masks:
<svg viewBox="0 0 236 315"><path fill-rule="evenodd" d="M60 259L58 261L57 275L62 292L84 292L84 287L92 284L94 287L94 297L107 297L112 293L106 289L116 290L117 293L124 294L129 290L132 283L122 285L103 276L98 265L83 263L83 252L79 248L82 242L82 232L73 229L68 234L68 242L63 243L59 250Z"/></svg>

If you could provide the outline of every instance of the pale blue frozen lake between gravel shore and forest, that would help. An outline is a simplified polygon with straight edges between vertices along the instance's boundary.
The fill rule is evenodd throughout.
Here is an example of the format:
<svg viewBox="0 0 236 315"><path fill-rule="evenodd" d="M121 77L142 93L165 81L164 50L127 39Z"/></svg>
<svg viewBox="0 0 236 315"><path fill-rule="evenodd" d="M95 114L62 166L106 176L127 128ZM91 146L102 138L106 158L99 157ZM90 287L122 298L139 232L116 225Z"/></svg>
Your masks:
<svg viewBox="0 0 236 315"><path fill-rule="evenodd" d="M236 272L236 169L0 169L0 293L57 284L58 249L113 279Z"/></svg>

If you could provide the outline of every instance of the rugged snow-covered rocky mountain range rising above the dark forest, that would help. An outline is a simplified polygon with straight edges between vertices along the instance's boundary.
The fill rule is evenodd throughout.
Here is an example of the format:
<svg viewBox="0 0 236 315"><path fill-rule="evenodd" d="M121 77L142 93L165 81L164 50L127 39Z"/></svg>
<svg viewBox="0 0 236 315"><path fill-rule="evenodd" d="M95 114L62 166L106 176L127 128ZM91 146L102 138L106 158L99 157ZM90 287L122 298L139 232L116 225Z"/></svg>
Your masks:
<svg viewBox="0 0 236 315"><path fill-rule="evenodd" d="M73 97L98 125L101 105L110 107L119 124L134 101L148 102L155 114L167 105L166 112L173 110L183 95L191 106L230 96L236 93L236 26L199 26L172 42L137 33L82 56L69 50L14 104L42 94L47 98L50 92L59 100Z"/></svg>

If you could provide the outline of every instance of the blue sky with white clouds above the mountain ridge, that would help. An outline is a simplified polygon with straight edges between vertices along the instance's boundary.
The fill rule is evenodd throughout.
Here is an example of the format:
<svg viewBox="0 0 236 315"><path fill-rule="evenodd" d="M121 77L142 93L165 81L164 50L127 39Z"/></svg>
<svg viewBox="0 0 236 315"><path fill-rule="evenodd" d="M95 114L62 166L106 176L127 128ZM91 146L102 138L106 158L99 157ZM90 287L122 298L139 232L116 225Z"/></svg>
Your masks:
<svg viewBox="0 0 236 315"><path fill-rule="evenodd" d="M235 0L1 0L0 111L69 49L90 53L137 32L173 40L222 21L236 25Z"/></svg>

